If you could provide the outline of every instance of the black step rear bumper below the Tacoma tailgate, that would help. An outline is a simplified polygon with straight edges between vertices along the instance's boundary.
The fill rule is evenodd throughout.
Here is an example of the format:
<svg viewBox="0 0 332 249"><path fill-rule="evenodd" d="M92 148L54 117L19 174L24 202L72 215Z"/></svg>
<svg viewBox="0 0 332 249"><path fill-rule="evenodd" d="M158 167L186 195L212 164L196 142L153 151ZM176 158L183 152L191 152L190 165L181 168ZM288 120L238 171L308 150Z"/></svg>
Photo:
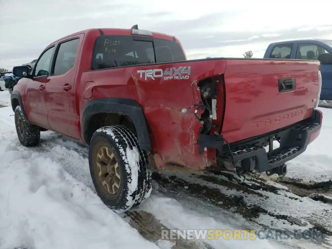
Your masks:
<svg viewBox="0 0 332 249"><path fill-rule="evenodd" d="M321 111L314 110L312 117L309 119L259 137L253 137L230 144L230 149L237 166L244 167L242 162L245 162L246 170L255 169L258 172L265 172L279 167L297 157L306 150L309 143L318 137L322 117L323 114ZM210 139L211 138L210 136ZM279 140L280 147L273 149L273 146L270 146L267 152L264 146L266 146L267 143L273 144L273 140ZM219 140L219 146L215 146L216 142L209 141L209 144L212 146L207 147L217 148L221 160L231 162L232 157L228 146L220 146L220 142L223 143L223 141Z"/></svg>

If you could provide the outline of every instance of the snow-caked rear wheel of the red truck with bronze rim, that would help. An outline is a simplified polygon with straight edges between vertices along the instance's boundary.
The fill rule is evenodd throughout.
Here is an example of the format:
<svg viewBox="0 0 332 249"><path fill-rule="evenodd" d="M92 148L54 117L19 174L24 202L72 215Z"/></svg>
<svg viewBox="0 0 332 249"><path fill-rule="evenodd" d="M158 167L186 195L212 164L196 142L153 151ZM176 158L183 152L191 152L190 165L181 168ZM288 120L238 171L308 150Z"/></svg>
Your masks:
<svg viewBox="0 0 332 249"><path fill-rule="evenodd" d="M105 126L92 136L89 166L98 196L111 209L139 206L151 193L151 168L137 135L123 125Z"/></svg>

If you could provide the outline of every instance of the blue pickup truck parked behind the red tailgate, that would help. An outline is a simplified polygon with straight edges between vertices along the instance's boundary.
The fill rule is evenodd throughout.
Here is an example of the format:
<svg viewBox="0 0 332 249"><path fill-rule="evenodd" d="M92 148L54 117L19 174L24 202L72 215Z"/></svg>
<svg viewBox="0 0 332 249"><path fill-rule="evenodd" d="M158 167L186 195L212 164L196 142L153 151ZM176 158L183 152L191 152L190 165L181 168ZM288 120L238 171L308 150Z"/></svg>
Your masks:
<svg viewBox="0 0 332 249"><path fill-rule="evenodd" d="M264 58L319 60L322 75L320 100L332 100L332 40L296 40L271 43Z"/></svg>

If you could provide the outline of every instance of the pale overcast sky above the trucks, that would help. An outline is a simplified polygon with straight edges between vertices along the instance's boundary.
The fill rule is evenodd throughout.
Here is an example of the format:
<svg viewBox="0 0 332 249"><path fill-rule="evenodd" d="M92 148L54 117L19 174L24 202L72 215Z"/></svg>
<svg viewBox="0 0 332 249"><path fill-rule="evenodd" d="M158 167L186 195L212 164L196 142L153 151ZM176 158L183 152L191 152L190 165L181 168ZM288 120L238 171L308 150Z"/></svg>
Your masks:
<svg viewBox="0 0 332 249"><path fill-rule="evenodd" d="M0 0L0 67L37 59L49 43L89 28L176 36L189 59L263 57L275 41L332 39L327 0Z"/></svg>

